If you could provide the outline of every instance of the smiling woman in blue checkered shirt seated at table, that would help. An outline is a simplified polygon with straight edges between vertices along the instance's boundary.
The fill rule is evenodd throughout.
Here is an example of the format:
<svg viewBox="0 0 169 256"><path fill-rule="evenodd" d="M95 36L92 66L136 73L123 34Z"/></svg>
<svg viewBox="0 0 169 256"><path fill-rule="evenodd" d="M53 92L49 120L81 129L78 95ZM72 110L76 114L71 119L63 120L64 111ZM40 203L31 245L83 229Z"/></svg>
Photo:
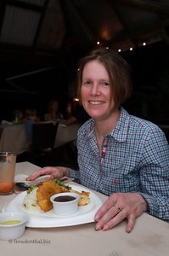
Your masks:
<svg viewBox="0 0 169 256"><path fill-rule="evenodd" d="M45 167L43 174L79 179L109 195L95 214L96 230L110 230L127 218L131 232L143 212L169 220L169 147L164 133L129 115L121 104L131 95L127 62L111 49L94 49L80 63L78 96L92 119L78 131L79 172Z"/></svg>

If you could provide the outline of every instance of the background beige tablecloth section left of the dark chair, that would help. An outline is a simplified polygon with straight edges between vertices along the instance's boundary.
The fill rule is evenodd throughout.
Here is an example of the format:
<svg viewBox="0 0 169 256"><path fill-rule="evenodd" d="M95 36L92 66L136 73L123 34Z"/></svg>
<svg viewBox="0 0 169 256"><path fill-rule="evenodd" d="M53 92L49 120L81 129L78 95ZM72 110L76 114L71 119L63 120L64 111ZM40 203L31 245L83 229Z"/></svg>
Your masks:
<svg viewBox="0 0 169 256"><path fill-rule="evenodd" d="M25 124L1 125L0 151L22 154L28 150Z"/></svg>

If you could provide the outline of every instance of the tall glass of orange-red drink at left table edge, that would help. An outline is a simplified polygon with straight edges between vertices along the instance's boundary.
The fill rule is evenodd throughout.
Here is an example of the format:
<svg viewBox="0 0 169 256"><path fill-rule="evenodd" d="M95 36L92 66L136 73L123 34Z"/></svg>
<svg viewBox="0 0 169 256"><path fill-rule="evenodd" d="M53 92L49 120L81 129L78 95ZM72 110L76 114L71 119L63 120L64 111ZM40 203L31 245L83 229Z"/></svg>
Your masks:
<svg viewBox="0 0 169 256"><path fill-rule="evenodd" d="M13 193L15 165L16 154L0 152L0 195Z"/></svg>

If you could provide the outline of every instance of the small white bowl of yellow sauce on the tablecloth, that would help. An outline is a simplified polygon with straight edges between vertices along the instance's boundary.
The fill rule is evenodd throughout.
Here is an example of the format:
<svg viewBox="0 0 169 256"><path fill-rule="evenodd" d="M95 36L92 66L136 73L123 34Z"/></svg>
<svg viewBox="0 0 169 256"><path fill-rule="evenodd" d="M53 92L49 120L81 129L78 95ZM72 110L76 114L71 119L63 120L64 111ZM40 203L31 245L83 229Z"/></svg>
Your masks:
<svg viewBox="0 0 169 256"><path fill-rule="evenodd" d="M0 212L0 240L17 239L25 233L25 212Z"/></svg>

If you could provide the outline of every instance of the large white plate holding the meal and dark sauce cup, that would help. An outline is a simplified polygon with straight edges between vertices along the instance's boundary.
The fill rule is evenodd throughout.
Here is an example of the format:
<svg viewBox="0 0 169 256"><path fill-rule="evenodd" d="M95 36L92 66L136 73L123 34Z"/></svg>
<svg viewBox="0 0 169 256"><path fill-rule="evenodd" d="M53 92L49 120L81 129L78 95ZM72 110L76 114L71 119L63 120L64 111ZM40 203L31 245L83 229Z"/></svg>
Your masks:
<svg viewBox="0 0 169 256"><path fill-rule="evenodd" d="M54 215L54 210L51 209L48 212L27 212L29 215L27 227L31 228L54 228L54 227L65 227L77 224L86 224L94 221L94 215L102 205L102 201L98 195L92 190L84 188L78 185L70 185L72 189L82 192L82 190L90 192L90 201L87 206L79 207L75 214L69 217L60 217ZM26 191L20 193L12 201L10 201L5 207L3 212L9 211L22 211L22 203L24 201Z"/></svg>

